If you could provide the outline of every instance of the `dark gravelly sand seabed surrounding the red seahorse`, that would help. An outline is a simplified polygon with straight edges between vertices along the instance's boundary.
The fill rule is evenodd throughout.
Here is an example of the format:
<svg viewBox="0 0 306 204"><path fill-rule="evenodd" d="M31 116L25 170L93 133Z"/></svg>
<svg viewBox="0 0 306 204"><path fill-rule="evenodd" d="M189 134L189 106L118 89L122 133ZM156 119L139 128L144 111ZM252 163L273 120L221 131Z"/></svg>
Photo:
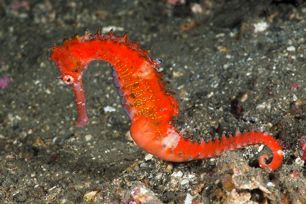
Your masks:
<svg viewBox="0 0 306 204"><path fill-rule="evenodd" d="M196 2L202 13L192 12ZM306 2L297 3L0 1L0 78L10 79L0 89L0 202L306 203ZM185 98L183 131L205 139L237 127L272 132L282 166L260 169L259 156L271 151L259 145L213 160L150 157L129 137L102 61L84 74L90 122L74 127L73 90L45 57L54 40L100 27L132 30L131 42L154 46L150 57L164 60L160 71Z"/></svg>

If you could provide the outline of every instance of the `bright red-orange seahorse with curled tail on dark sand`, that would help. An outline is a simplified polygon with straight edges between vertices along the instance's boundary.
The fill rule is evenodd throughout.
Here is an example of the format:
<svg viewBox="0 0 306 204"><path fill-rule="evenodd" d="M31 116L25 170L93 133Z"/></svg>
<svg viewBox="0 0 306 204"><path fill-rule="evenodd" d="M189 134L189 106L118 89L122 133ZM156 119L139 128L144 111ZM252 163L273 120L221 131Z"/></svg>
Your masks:
<svg viewBox="0 0 306 204"><path fill-rule="evenodd" d="M113 34L88 34L72 40L64 39L62 46L51 47L50 59L55 62L60 71L57 79L62 79L69 87L73 87L78 120L76 127L83 127L88 122L86 99L82 77L84 70L93 60L103 60L112 66L112 77L121 104L131 120L130 133L135 143L150 154L167 161L189 161L216 158L226 150L254 145L267 145L273 160L266 164L267 155L259 158L261 168L276 170L281 166L283 151L280 142L267 132L254 132L252 129L241 134L237 129L235 136L228 137L222 133L222 139L211 139L206 143L203 138L193 142L185 138L185 132L180 132L174 123L179 117L179 102L174 93L165 87L158 72L157 65L161 59L152 61L148 50L142 50L139 42L131 43L129 32L122 37Z"/></svg>

